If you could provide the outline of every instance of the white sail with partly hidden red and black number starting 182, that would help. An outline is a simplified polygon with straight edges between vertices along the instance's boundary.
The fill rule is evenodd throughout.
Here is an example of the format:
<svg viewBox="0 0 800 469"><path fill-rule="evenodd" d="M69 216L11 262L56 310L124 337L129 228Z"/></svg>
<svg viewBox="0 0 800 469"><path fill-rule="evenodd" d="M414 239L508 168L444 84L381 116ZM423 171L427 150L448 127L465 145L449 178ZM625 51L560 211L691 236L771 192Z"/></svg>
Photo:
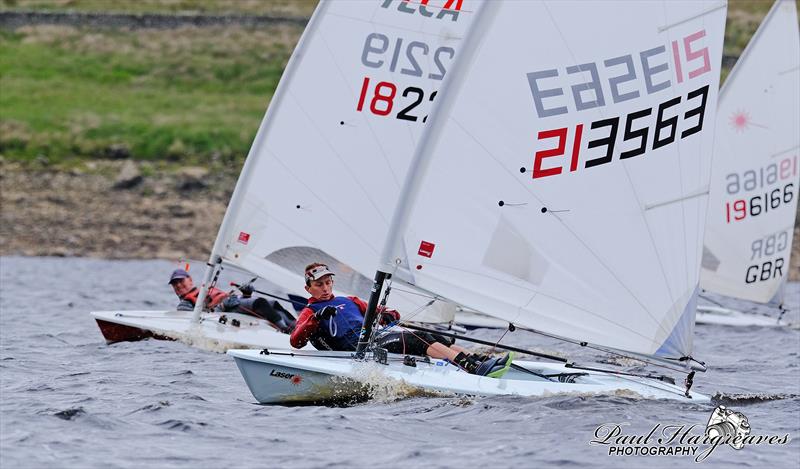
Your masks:
<svg viewBox="0 0 800 469"><path fill-rule="evenodd" d="M476 2L322 1L248 155L214 255L285 288L333 263L367 295L397 193ZM395 292L412 320L454 306ZM421 310L424 310L420 312Z"/></svg>

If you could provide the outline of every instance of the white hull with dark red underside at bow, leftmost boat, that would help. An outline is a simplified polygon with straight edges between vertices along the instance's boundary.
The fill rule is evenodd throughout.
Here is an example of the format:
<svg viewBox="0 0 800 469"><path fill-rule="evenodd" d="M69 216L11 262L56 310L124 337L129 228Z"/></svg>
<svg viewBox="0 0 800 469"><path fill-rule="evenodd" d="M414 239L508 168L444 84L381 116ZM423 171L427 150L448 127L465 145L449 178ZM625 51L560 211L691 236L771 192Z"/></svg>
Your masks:
<svg viewBox="0 0 800 469"><path fill-rule="evenodd" d="M179 340L197 348L289 349L289 335L264 320L239 313L203 313L192 324L192 311L95 311L91 313L108 343L146 338ZM224 322L220 318L225 316ZM235 321L239 325L234 325Z"/></svg>

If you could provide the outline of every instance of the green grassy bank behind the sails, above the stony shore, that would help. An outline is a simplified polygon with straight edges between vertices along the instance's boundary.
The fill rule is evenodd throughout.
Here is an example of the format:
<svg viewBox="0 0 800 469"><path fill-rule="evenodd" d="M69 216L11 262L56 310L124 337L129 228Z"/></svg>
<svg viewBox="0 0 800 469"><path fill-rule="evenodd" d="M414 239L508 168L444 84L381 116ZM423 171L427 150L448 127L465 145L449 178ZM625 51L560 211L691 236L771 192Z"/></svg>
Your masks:
<svg viewBox="0 0 800 469"><path fill-rule="evenodd" d="M2 0L5 10L308 16L314 0ZM725 54L771 1L734 1ZM296 26L0 31L0 155L238 164L302 30ZM238 167L238 166L237 166Z"/></svg>

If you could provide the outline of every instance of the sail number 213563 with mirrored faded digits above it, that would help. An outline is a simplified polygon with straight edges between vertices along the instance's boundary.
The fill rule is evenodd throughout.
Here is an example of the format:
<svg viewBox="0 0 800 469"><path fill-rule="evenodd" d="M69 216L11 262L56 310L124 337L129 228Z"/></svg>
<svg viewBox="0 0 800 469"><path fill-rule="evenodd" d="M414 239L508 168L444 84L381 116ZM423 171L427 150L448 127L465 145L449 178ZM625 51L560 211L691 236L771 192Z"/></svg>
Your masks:
<svg viewBox="0 0 800 469"><path fill-rule="evenodd" d="M660 98L656 105L625 114L601 112L600 119L579 118L572 126L539 131L533 179L565 177L646 157L643 155L650 150L674 145L700 132L709 92L704 75L713 72L706 39L705 29L699 29L643 50L620 51L602 60L529 72L533 107L542 119L568 113L582 116L592 109L608 111L604 108L635 103L642 97ZM675 93L677 85L692 82L697 83L696 88Z"/></svg>

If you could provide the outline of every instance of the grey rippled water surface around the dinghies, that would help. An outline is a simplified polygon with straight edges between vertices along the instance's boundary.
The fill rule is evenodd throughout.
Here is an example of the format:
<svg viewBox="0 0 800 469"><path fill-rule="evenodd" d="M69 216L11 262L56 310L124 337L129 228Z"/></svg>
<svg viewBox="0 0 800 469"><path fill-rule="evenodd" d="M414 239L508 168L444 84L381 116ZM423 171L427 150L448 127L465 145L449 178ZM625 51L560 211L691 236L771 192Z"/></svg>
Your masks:
<svg viewBox="0 0 800 469"><path fill-rule="evenodd" d="M557 396L266 407L226 355L176 342L105 344L88 312L173 305L164 283L172 268L0 259L0 467L696 467L690 456L609 456L589 442L604 423L629 434L704 427L719 403L745 414L752 434L791 441L720 447L702 466L800 467L796 329L698 326L695 355L711 369L695 389L716 395L711 405ZM800 285L789 302L787 319L798 322ZM557 350L532 335L510 342Z"/></svg>

